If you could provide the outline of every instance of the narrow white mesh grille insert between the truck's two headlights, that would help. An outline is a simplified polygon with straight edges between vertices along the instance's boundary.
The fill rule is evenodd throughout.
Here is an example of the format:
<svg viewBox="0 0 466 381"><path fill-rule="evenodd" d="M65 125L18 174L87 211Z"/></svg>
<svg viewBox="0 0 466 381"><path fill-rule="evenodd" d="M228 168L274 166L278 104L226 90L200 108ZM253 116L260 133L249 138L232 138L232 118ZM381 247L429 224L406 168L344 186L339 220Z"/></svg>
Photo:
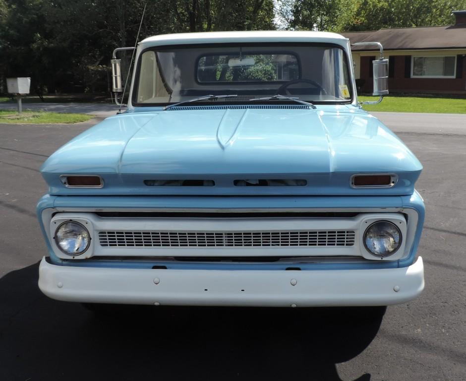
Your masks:
<svg viewBox="0 0 466 381"><path fill-rule="evenodd" d="M353 246L354 231L99 232L103 247L288 247Z"/></svg>

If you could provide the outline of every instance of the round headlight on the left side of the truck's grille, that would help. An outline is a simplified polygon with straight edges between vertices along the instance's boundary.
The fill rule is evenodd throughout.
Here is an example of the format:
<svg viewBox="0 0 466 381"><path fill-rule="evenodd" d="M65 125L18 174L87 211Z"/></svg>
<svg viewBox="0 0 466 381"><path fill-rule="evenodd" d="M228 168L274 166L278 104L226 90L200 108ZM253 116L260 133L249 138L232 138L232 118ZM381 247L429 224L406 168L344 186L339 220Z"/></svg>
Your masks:
<svg viewBox="0 0 466 381"><path fill-rule="evenodd" d="M89 248L91 236L84 225L75 221L66 221L55 231L55 243L64 254L76 256L83 254Z"/></svg>

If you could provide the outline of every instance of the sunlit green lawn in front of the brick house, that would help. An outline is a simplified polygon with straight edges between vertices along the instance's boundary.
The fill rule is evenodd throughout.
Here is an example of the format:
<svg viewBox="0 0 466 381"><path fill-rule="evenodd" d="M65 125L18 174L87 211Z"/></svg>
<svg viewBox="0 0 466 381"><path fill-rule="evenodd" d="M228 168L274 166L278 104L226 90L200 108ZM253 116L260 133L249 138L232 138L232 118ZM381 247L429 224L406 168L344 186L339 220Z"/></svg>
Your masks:
<svg viewBox="0 0 466 381"><path fill-rule="evenodd" d="M378 97L357 97L358 101L375 101ZM466 114L466 99L387 96L378 105L363 105L366 111L396 113Z"/></svg>

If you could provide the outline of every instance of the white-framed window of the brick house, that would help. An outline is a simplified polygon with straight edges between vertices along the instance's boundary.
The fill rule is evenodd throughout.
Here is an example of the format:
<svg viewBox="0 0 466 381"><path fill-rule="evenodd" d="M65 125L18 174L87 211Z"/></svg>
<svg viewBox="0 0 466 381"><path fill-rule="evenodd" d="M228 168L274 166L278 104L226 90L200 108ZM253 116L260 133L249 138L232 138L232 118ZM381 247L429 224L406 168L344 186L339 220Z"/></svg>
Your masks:
<svg viewBox="0 0 466 381"><path fill-rule="evenodd" d="M455 78L456 56L413 57L411 78Z"/></svg>

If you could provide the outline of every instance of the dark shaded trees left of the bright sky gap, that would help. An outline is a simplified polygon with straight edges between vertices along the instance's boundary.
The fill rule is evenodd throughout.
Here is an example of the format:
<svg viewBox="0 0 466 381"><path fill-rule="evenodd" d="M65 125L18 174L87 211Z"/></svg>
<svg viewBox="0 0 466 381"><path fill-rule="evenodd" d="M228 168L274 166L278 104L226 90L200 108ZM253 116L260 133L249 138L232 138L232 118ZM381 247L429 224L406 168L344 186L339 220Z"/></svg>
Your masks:
<svg viewBox="0 0 466 381"><path fill-rule="evenodd" d="M139 39L274 29L273 0L147 1ZM0 79L32 77L32 91L106 90L113 50L134 46L141 0L0 0ZM129 55L130 56L130 55Z"/></svg>

